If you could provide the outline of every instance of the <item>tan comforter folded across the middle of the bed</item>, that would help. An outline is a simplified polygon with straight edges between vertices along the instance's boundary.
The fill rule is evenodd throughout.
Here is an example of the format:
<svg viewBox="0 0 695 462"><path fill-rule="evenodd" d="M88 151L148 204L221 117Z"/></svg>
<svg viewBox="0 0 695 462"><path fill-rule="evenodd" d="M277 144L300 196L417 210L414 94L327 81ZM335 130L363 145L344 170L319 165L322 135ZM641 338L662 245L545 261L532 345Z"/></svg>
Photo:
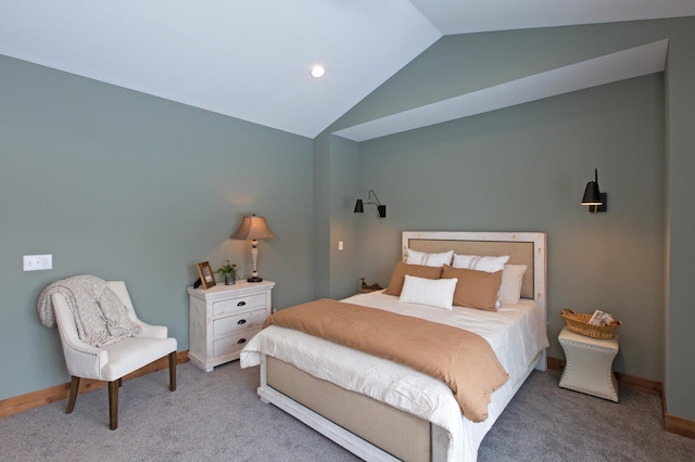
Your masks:
<svg viewBox="0 0 695 462"><path fill-rule="evenodd" d="M389 359L443 381L469 420L488 418L492 393L508 374L484 338L408 316L319 299L273 315L279 325Z"/></svg>

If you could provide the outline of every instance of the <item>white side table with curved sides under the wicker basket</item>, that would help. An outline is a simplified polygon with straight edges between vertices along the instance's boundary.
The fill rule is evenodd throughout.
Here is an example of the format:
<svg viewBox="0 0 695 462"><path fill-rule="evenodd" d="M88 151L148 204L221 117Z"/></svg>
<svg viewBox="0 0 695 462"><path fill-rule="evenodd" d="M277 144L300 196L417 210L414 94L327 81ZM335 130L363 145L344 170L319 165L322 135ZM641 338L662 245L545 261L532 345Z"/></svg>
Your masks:
<svg viewBox="0 0 695 462"><path fill-rule="evenodd" d="M618 336L599 339L565 328L557 339L567 359L559 386L618 402L618 381L612 373L612 360L620 349Z"/></svg>

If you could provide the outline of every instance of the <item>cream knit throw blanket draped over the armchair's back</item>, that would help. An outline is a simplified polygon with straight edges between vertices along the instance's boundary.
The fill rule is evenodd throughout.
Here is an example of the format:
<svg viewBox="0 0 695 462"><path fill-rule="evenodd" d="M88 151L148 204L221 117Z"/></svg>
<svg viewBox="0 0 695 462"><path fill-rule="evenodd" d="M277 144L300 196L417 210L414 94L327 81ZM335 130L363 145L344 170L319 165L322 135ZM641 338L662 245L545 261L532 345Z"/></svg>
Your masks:
<svg viewBox="0 0 695 462"><path fill-rule="evenodd" d="M79 338L92 346L104 347L124 337L138 336L141 329L132 322L121 298L106 281L90 274L75 275L49 284L39 296L37 308L41 324L54 328L52 294L67 300Z"/></svg>

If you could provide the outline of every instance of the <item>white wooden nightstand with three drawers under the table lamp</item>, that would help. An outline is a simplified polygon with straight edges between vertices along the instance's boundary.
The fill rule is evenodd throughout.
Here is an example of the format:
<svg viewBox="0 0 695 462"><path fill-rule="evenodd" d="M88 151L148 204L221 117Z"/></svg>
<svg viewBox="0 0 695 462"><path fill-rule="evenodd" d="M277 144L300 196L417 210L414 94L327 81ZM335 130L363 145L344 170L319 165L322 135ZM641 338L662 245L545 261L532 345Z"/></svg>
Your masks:
<svg viewBox="0 0 695 462"><path fill-rule="evenodd" d="M205 372L239 359L241 348L261 331L273 310L273 281L237 281L204 290L188 287L188 359Z"/></svg>

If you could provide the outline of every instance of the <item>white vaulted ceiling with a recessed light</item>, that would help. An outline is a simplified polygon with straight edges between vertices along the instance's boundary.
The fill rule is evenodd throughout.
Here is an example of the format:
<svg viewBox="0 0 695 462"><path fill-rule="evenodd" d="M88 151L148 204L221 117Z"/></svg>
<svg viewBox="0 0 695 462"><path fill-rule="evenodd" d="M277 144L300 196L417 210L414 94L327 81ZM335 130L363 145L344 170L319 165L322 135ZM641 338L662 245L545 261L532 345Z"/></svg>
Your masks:
<svg viewBox="0 0 695 462"><path fill-rule="evenodd" d="M0 54L314 138L442 35L693 15L695 0L0 0Z"/></svg>

